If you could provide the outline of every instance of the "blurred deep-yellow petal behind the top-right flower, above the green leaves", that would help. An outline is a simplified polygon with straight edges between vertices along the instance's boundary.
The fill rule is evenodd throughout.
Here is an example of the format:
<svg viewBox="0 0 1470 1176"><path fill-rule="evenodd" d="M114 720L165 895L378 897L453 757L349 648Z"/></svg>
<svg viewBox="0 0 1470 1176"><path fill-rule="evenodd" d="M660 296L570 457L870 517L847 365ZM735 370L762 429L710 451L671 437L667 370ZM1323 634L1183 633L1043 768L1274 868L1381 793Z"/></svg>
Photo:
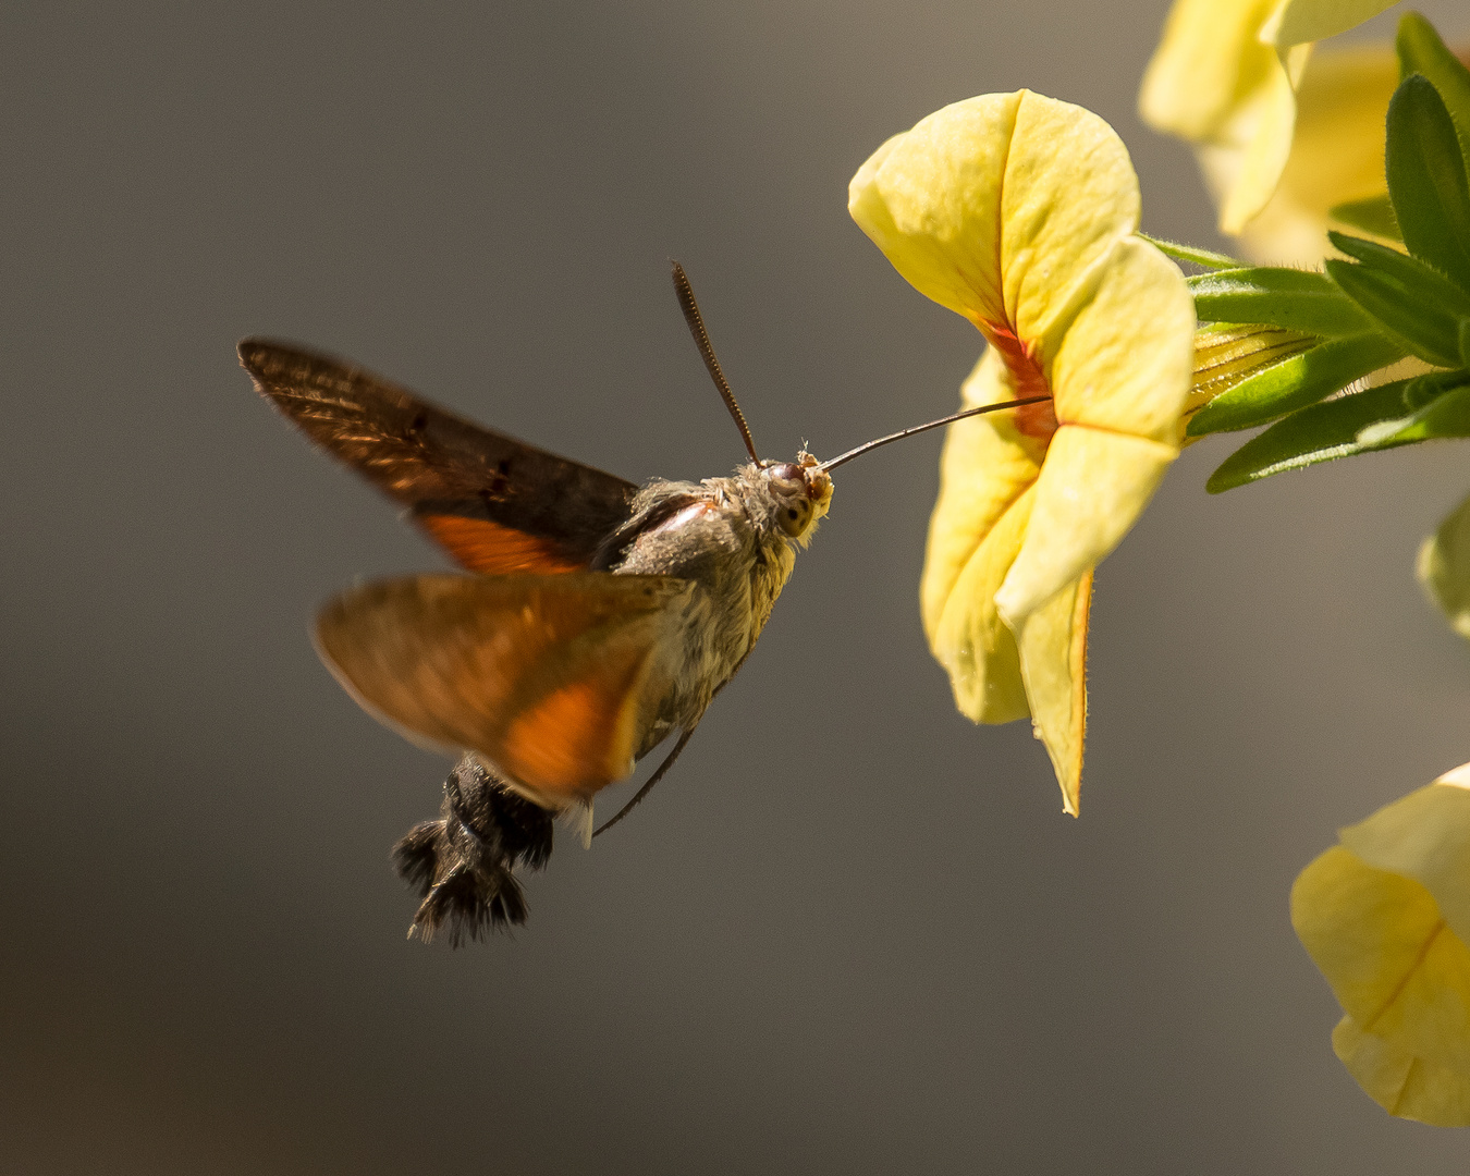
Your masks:
<svg viewBox="0 0 1470 1176"><path fill-rule="evenodd" d="M1317 51L1297 88L1286 168L1270 203L1241 234L1241 253L1272 265L1322 263L1327 210L1388 191L1383 121L1396 85L1392 46Z"/></svg>

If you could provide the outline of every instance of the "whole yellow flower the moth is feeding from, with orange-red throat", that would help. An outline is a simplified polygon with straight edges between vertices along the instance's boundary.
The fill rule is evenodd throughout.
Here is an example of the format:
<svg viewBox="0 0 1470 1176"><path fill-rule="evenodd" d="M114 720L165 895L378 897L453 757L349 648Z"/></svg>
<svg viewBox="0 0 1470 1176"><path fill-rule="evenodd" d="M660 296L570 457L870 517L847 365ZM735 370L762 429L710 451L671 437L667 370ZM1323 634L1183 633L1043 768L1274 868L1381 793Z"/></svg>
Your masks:
<svg viewBox="0 0 1470 1176"><path fill-rule="evenodd" d="M858 169L848 210L922 294L989 347L953 425L922 606L956 704L1032 716L1078 811L1092 567L1179 453L1194 304L1138 228L1138 178L1102 119L1029 91L947 106Z"/></svg>

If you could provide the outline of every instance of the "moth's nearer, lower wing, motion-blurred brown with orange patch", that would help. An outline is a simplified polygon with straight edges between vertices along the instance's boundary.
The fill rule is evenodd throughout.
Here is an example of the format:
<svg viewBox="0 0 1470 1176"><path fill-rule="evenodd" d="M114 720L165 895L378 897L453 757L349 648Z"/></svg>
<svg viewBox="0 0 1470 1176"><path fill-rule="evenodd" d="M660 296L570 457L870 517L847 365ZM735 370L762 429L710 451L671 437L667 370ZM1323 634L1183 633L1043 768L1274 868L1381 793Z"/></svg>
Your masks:
<svg viewBox="0 0 1470 1176"><path fill-rule="evenodd" d="M353 588L318 650L369 711L560 806L632 772L667 689L667 576L407 576Z"/></svg>

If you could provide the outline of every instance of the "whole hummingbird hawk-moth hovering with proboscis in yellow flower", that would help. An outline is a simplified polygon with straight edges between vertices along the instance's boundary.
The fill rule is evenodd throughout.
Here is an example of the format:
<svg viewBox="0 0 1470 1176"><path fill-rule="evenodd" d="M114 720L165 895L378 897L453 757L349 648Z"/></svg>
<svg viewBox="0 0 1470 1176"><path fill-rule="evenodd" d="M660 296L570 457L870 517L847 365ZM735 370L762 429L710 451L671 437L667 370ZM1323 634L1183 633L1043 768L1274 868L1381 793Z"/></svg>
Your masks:
<svg viewBox="0 0 1470 1176"><path fill-rule="evenodd" d="M523 923L517 869L551 853L553 817L592 836L592 798L675 736L620 820L688 744L760 637L832 500L841 457L764 462L720 372L694 291L675 288L750 463L638 487L492 432L362 368L266 340L240 344L256 388L390 498L463 573L382 579L320 610L316 648L369 713L459 754L438 820L394 847L450 941Z"/></svg>

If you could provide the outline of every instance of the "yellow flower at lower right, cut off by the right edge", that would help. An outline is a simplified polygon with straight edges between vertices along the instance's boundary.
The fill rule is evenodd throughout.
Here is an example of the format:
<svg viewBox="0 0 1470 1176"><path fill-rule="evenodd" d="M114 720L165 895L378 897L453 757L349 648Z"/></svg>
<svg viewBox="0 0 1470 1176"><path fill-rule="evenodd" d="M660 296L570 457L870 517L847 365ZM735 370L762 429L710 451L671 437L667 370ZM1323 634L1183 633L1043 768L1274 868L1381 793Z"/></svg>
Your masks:
<svg viewBox="0 0 1470 1176"><path fill-rule="evenodd" d="M1339 838L1291 894L1345 1013L1332 1048L1389 1114L1470 1126L1470 764Z"/></svg>

